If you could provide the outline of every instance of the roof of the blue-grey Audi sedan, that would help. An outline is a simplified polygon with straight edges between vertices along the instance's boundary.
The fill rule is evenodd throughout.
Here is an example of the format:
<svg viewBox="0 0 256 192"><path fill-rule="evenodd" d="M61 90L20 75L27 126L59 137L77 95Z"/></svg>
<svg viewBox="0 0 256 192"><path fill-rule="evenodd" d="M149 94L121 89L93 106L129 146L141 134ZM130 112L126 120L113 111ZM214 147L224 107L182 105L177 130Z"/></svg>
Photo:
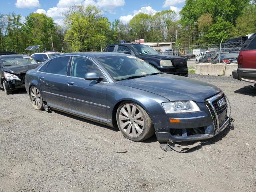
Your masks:
<svg viewBox="0 0 256 192"><path fill-rule="evenodd" d="M124 53L116 53L116 52L74 52L74 53L65 53L61 56L88 56L91 58L100 58L100 57L107 57L107 56L129 56L128 54Z"/></svg>

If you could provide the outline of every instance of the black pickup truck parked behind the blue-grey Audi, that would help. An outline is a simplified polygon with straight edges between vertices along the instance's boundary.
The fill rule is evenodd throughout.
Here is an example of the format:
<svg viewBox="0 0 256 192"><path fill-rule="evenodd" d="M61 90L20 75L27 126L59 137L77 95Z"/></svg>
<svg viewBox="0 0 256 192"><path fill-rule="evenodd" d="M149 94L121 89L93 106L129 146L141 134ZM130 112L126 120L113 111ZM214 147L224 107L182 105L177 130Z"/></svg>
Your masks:
<svg viewBox="0 0 256 192"><path fill-rule="evenodd" d="M188 76L188 67L185 58L159 54L148 45L132 43L109 44L105 52L130 54L148 62L164 73Z"/></svg>

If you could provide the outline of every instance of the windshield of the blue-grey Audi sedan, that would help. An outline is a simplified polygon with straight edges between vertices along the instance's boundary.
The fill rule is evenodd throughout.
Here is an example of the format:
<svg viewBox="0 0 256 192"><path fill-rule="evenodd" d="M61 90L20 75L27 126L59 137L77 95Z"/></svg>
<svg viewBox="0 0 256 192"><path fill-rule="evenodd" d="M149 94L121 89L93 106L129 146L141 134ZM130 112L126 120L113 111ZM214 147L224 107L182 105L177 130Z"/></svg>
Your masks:
<svg viewBox="0 0 256 192"><path fill-rule="evenodd" d="M114 80L128 79L162 73L142 59L134 56L108 56L100 57L102 63Z"/></svg>

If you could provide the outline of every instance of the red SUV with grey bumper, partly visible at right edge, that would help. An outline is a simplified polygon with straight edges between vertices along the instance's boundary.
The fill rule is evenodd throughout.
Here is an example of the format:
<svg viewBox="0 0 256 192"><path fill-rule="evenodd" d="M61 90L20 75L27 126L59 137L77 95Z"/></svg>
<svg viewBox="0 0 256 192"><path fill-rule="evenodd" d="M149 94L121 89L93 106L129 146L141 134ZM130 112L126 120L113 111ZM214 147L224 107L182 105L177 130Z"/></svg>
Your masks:
<svg viewBox="0 0 256 192"><path fill-rule="evenodd" d="M243 44L238 56L238 69L232 72L232 76L256 84L256 33Z"/></svg>

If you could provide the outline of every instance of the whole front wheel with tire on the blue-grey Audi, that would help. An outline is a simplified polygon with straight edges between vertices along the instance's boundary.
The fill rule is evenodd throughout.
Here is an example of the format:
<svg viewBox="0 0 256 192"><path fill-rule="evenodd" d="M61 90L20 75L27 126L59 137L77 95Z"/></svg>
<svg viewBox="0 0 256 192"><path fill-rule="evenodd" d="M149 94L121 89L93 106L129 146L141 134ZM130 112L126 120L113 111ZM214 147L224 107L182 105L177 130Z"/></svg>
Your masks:
<svg viewBox="0 0 256 192"><path fill-rule="evenodd" d="M147 112L134 102L123 102L118 107L116 119L123 136L132 141L150 138L155 130Z"/></svg>

